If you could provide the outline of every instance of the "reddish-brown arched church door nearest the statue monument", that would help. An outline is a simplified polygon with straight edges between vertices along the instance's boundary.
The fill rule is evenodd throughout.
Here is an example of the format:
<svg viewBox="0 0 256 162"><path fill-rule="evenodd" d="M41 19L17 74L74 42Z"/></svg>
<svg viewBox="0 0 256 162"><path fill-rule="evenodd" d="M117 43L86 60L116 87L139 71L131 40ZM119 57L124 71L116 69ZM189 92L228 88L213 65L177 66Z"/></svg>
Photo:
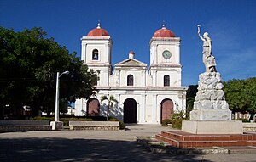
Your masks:
<svg viewBox="0 0 256 162"><path fill-rule="evenodd" d="M161 122L162 120L170 119L173 113L173 102L171 99L164 99L161 102Z"/></svg>

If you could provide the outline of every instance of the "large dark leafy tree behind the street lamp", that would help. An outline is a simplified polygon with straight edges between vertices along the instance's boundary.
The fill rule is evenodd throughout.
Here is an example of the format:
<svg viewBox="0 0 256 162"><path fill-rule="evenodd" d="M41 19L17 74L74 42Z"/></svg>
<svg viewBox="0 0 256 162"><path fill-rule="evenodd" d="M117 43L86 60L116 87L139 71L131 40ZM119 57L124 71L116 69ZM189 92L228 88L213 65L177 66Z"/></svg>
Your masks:
<svg viewBox="0 0 256 162"><path fill-rule="evenodd" d="M29 105L33 115L38 109L53 111L56 73L65 70L70 75L61 76L60 102L96 94L96 71L46 36L42 28L15 32L0 27L0 109L9 105L19 112Z"/></svg>

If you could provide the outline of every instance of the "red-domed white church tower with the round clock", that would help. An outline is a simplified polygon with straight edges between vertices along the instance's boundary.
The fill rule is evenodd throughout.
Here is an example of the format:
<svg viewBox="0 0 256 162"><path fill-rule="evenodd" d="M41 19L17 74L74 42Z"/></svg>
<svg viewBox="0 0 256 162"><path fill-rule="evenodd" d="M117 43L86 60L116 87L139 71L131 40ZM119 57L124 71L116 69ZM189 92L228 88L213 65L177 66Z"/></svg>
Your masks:
<svg viewBox="0 0 256 162"><path fill-rule="evenodd" d="M180 38L162 25L150 41L150 67L155 87L181 87Z"/></svg>

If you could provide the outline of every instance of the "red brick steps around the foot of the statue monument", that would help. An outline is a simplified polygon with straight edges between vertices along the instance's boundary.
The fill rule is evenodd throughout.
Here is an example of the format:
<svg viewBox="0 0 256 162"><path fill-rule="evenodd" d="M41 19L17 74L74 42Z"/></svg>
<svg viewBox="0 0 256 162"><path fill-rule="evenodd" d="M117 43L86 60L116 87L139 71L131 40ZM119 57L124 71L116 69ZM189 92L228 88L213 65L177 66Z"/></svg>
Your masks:
<svg viewBox="0 0 256 162"><path fill-rule="evenodd" d="M184 131L162 131L156 138L177 148L212 148L227 146L256 146L256 134L237 135L192 134Z"/></svg>

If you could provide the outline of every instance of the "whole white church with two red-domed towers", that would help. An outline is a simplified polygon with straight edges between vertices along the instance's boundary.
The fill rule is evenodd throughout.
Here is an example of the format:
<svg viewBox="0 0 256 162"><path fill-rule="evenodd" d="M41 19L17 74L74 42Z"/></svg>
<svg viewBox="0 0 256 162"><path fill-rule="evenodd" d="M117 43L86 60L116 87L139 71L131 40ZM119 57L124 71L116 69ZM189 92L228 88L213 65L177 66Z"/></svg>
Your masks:
<svg viewBox="0 0 256 162"><path fill-rule="evenodd" d="M165 25L155 31L150 40L149 67L135 59L132 51L128 53L128 59L112 66L113 41L100 24L81 41L84 64L100 71L99 92L88 100L77 99L75 115L105 116L108 101L101 102L101 98L110 95L118 102L109 115L125 123L160 124L174 111L185 111L186 87L181 85L180 38Z"/></svg>

